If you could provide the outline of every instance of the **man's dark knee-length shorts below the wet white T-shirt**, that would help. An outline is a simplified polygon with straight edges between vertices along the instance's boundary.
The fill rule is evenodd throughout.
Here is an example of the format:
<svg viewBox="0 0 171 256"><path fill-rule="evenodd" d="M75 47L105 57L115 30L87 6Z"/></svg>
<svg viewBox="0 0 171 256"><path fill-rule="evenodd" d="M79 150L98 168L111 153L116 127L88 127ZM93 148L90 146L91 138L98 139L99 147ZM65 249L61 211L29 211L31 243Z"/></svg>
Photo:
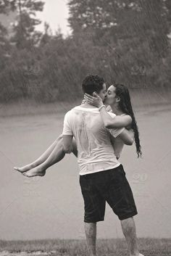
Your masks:
<svg viewBox="0 0 171 256"><path fill-rule="evenodd" d="M120 220L138 214L122 165L80 176L80 187L84 199L84 222L104 220L106 201Z"/></svg>

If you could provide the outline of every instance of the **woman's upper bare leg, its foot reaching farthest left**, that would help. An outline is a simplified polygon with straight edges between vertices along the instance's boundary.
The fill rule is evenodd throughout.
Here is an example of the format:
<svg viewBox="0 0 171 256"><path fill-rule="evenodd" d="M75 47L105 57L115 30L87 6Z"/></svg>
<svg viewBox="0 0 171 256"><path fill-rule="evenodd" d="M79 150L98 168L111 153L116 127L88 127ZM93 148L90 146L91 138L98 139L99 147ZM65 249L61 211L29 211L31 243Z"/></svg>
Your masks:
<svg viewBox="0 0 171 256"><path fill-rule="evenodd" d="M51 146L49 146L48 149L46 149L45 152L43 152L43 154L41 154L41 157L38 157L38 159L36 159L34 162L31 162L28 165L24 165L22 167L14 167L15 170L20 171L20 173L24 173L32 168L35 168L38 165L41 165L42 162L44 162L49 155L51 154L51 152L54 150L55 146L57 146L58 141L60 141L60 139L62 139L62 135L60 135L52 144Z"/></svg>

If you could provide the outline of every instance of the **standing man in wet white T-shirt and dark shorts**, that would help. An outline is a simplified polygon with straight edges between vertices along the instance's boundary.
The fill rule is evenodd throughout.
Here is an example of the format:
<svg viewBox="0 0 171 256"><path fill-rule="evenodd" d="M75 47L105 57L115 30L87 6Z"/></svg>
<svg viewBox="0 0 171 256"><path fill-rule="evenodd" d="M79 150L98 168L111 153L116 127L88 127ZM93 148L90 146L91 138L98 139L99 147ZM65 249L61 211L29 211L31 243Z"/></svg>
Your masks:
<svg viewBox="0 0 171 256"><path fill-rule="evenodd" d="M106 84L98 75L87 75L82 84L86 94L97 94L104 100ZM114 113L110 113L113 117ZM85 103L64 116L64 152L72 152L72 137L78 147L80 187L84 199L86 240L91 256L96 255L96 222L104 220L105 203L109 203L121 221L130 256L140 256L133 215L138 214L125 171L114 155L110 133L102 123L98 108ZM112 136L133 144L125 128L113 129Z"/></svg>

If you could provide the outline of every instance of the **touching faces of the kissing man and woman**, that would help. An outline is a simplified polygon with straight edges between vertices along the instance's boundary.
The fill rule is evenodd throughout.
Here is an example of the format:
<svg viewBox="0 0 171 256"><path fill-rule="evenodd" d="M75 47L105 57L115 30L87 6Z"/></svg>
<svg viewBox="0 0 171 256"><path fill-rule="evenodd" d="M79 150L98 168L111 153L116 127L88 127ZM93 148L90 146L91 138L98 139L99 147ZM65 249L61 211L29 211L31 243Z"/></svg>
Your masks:
<svg viewBox="0 0 171 256"><path fill-rule="evenodd" d="M109 86L107 89L106 83L103 84L103 89L98 95L101 97L104 104L112 105L119 101L119 97L117 97L115 90L115 86Z"/></svg>

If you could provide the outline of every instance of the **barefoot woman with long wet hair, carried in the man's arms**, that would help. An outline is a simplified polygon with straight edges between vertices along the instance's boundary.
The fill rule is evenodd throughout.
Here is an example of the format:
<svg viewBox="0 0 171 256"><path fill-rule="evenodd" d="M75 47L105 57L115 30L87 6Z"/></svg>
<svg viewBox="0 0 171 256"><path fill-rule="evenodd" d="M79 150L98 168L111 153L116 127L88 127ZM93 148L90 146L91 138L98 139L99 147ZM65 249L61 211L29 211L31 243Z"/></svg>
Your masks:
<svg viewBox="0 0 171 256"><path fill-rule="evenodd" d="M102 107L103 102L101 98L94 93L96 97L85 95L85 99L88 103L95 105L96 107L101 107L100 113L104 125L107 128L133 128L133 133L135 136L136 151L138 156L141 155L141 145L138 136L138 127L135 122L135 117L133 115L133 110L130 102L130 94L126 86L120 84L110 86L107 90L107 97L105 99L105 104L109 104L110 107L107 110L114 112L117 116L112 118L107 113L107 110ZM83 103L83 102L82 102ZM112 139L112 138L111 138ZM114 147L114 154L117 156L117 159L120 157L120 152L123 147L123 143L120 139L112 139L112 144ZM77 157L77 146L75 139L72 141L72 152ZM36 161L25 165L22 168L14 167L15 170L20 171L24 176L33 177L33 176L44 176L46 169L51 165L54 165L56 162L59 162L64 157L62 135L60 135L57 140L54 141L51 146L44 152L41 157Z"/></svg>

